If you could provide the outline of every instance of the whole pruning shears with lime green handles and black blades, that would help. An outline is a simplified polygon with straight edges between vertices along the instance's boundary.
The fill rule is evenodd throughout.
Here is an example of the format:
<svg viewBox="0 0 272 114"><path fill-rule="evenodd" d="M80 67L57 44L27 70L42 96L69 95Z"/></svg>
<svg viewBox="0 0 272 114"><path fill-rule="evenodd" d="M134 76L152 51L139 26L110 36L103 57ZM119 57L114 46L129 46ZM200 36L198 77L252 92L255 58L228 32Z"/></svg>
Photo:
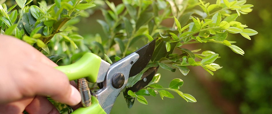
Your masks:
<svg viewBox="0 0 272 114"><path fill-rule="evenodd" d="M82 106L72 114L109 114L119 93L125 88L128 78L139 74L148 64L155 49L155 40L126 57L109 64L93 53L86 53L77 62L58 66L69 80L78 80L78 89L82 96ZM138 91L145 87L157 72L151 67L143 73L140 81L125 92ZM92 93L88 82L97 83L100 88Z"/></svg>

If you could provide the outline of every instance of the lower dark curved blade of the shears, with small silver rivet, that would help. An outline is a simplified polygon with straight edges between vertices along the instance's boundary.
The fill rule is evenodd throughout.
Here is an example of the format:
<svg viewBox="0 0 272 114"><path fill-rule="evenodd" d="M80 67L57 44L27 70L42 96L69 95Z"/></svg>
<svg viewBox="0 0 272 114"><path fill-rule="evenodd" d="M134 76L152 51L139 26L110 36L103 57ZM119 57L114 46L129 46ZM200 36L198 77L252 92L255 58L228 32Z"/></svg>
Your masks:
<svg viewBox="0 0 272 114"><path fill-rule="evenodd" d="M136 84L133 85L133 87L127 88L125 91L131 90L133 92L139 91L140 89L143 89L154 77L154 75L157 73L159 66L150 67L148 68L141 77L142 80L138 81ZM143 80L146 78L146 80Z"/></svg>

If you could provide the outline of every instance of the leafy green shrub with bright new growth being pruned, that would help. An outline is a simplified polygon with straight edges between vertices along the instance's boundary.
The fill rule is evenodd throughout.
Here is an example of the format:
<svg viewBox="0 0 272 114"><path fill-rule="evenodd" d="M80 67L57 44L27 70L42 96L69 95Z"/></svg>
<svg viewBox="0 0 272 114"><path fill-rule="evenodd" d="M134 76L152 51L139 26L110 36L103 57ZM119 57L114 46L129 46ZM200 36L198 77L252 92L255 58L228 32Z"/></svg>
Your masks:
<svg viewBox="0 0 272 114"><path fill-rule="evenodd" d="M102 0L51 0L54 4L41 1L36 3L37 6L32 5L32 0L15 1L18 7L7 6L5 3L0 5L0 33L29 43L55 63L60 60L62 65L74 63L86 52L92 52L113 63L155 38L155 50L146 68L160 66L171 72L178 68L186 76L190 72L187 66L201 66L213 75L212 71L222 68L214 63L219 58L218 54L208 50L200 52L201 49L188 50L183 46L218 43L243 55L245 52L233 45L235 41L227 40L228 34L239 33L249 40L250 36L258 34L236 21L239 16L252 11L253 5L246 4L246 0L216 0L215 4L202 0L122 0L123 3L117 6L113 2ZM11 4L10 1L6 3ZM110 10L105 10L105 6ZM202 11L197 10L197 7ZM102 39L100 34L79 35L76 32L78 28L72 25L98 9L101 9L105 20L97 20L97 23L102 26L106 37ZM165 19L173 19L175 23L170 28L164 27L162 21ZM182 54L173 53L174 49ZM127 87L141 80L142 73L129 78ZM134 100L132 102L131 99L135 97L140 103L147 104L143 95L159 94L162 99L174 98L169 91L178 93L187 102L196 102L192 95L178 90L183 84L181 79L172 80L168 88L156 84L159 79L160 74L156 74L142 90L124 93L128 107L133 105ZM66 108L61 108L60 112L64 113L65 110L67 112Z"/></svg>

